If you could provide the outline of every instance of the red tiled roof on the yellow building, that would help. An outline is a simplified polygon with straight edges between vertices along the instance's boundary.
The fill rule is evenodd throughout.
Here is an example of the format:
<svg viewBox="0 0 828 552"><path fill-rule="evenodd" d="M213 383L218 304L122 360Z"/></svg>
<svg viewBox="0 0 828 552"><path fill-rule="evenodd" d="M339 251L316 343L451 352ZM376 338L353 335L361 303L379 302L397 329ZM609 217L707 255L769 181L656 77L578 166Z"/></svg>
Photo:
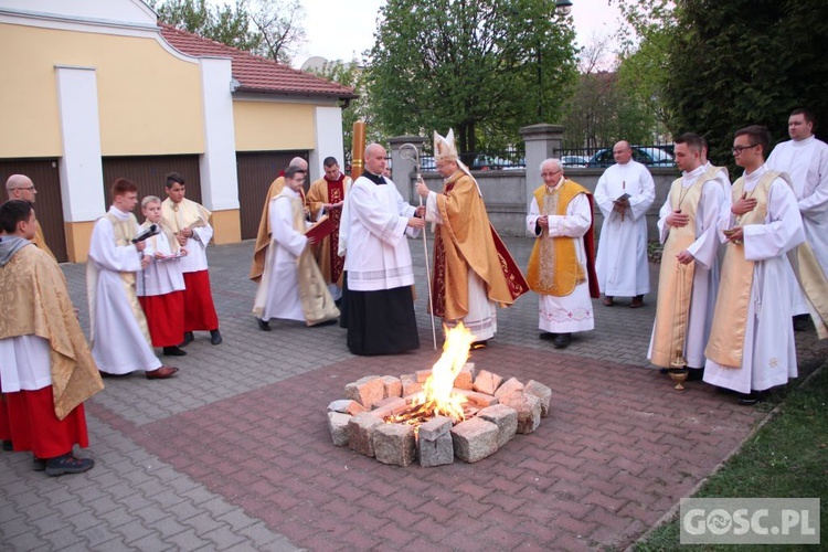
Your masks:
<svg viewBox="0 0 828 552"><path fill-rule="evenodd" d="M290 96L323 96L355 98L353 89L326 78L298 71L273 60L227 46L198 34L159 21L161 36L179 52L194 57L221 56L232 59L233 77L238 81L236 92L284 94Z"/></svg>

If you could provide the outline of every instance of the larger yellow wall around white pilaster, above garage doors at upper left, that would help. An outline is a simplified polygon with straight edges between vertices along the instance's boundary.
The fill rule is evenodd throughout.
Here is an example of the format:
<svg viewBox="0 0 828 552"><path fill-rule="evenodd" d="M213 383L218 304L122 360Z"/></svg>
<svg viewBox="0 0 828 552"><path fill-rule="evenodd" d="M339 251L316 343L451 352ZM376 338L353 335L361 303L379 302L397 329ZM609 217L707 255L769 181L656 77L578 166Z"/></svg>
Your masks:
<svg viewBox="0 0 828 552"><path fill-rule="evenodd" d="M95 70L104 156L204 151L199 64L156 40L0 24L0 158L63 155L55 65Z"/></svg>

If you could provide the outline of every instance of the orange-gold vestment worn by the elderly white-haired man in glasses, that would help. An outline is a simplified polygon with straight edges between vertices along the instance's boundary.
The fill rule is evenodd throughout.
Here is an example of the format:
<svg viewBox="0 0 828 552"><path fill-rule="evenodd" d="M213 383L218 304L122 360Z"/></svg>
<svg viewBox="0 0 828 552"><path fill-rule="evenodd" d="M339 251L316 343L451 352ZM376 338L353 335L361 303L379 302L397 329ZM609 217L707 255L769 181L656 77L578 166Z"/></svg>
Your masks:
<svg viewBox="0 0 828 552"><path fill-rule="evenodd" d="M541 214L565 215L570 202L581 193L588 192L565 180L558 190L548 191L545 185L538 188L534 200ZM550 238L549 229L543 229L529 257L527 280L532 291L564 297L572 294L576 286L586 283L586 269L577 262L575 253L576 240L567 236Z"/></svg>

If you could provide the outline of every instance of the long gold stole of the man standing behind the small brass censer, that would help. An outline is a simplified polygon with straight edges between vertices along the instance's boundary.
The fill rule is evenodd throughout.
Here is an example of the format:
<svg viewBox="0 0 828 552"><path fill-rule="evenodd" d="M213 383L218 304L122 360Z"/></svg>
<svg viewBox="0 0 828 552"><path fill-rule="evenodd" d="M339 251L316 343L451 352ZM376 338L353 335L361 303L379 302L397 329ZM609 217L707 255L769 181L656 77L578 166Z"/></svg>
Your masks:
<svg viewBox="0 0 828 552"><path fill-rule="evenodd" d="M676 256L696 241L696 212L701 191L712 176L699 176L689 187L678 178L670 187L670 210L681 210L690 217L686 226L671 227L661 253L658 274L658 300L656 301L656 327L652 332L652 358L657 367L684 368L684 338L690 315L690 297L693 290L696 263L682 264Z"/></svg>

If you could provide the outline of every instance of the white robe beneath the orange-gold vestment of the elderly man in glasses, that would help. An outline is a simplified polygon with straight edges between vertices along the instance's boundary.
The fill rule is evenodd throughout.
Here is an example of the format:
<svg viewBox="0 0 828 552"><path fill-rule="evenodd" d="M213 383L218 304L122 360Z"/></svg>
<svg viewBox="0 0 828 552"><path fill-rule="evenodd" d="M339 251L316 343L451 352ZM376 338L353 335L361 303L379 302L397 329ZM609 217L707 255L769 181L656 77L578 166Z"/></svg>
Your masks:
<svg viewBox="0 0 828 552"><path fill-rule="evenodd" d="M561 178L555 188L560 188L563 182L564 179ZM532 197L532 204L527 215L527 231L530 234L535 233L540 215L541 209L538 200ZM583 237L591 226L590 200L586 194L578 193L566 205L565 215L549 215L549 235L540 240L551 240L555 236L572 237L575 244L575 257L586 275L586 250ZM538 294L538 327L541 330L552 333L573 333L595 328L588 277L586 275L587 280L576 285L570 295L558 297Z"/></svg>

